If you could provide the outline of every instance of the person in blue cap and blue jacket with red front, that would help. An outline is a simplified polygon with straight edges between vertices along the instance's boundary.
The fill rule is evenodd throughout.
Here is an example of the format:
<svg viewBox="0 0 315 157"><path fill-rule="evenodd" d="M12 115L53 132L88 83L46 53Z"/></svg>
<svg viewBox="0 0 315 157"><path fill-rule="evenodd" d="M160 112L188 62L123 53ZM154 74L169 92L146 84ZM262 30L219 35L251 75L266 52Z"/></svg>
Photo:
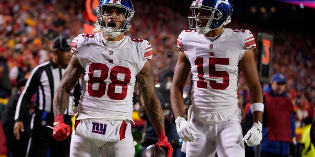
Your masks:
<svg viewBox="0 0 315 157"><path fill-rule="evenodd" d="M295 154L294 110L287 97L285 84L284 74L277 73L272 77L271 83L263 88L264 115L260 157L289 157ZM254 151L255 149L256 147Z"/></svg>

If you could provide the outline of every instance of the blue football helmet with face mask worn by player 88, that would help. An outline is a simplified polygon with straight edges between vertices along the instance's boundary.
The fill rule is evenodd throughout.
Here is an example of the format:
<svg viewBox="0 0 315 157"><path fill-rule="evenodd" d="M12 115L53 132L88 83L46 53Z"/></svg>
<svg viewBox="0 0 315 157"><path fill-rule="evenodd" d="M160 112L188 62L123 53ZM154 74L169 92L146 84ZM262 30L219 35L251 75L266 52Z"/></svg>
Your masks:
<svg viewBox="0 0 315 157"><path fill-rule="evenodd" d="M125 17L122 18L116 15L104 15L104 12L108 8L114 8L120 10L124 13ZM104 32L108 37L114 38L129 30L131 18L134 15L133 5L131 0L100 0L98 5L96 6L97 19L94 32ZM108 24L106 21L103 21L103 16L107 19L107 16L117 17L118 21L123 19L123 25L118 27L118 22L116 25ZM110 26L109 26L110 25Z"/></svg>

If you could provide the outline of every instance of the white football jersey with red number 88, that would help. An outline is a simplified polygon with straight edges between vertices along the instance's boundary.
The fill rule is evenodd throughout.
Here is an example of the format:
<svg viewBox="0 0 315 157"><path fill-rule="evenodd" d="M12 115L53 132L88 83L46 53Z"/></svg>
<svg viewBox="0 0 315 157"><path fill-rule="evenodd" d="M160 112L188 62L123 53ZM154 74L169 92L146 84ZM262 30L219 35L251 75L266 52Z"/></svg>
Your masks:
<svg viewBox="0 0 315 157"><path fill-rule="evenodd" d="M71 44L71 52L85 69L78 119L132 121L136 75L152 58L152 46L147 40L125 36L112 49L104 45L104 40L101 32L79 34Z"/></svg>

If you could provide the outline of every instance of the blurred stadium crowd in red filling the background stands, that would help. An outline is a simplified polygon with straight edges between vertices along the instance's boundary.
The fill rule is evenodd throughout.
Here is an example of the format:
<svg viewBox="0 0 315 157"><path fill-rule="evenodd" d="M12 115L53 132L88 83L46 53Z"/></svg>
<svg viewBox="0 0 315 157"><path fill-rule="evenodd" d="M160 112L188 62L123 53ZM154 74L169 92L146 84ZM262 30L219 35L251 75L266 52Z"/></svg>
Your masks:
<svg viewBox="0 0 315 157"><path fill-rule="evenodd" d="M177 52L176 41L183 29L188 29L189 2L179 0L133 0L137 8L131 21L131 37L146 39L153 46L152 72L155 81L166 69L173 70ZM237 1L237 0L235 0ZM166 5L167 4L167 5ZM239 4L239 3L236 3ZM284 4L283 4L284 5ZM184 8L184 9L183 9ZM235 9L239 9L235 5ZM315 10L314 10L315 12ZM256 16L256 15L248 15ZM287 92L295 106L296 127L303 127L306 117L314 117L315 107L315 37L299 32L302 27L279 29L246 21L236 15L231 28L250 29L257 40L258 32L274 37L271 75L283 73L287 78ZM259 18L257 15L256 19ZM252 19L255 19L252 18ZM304 18L304 17L302 17ZM285 18L284 18L285 19ZM282 19L279 19L282 20ZM272 21L272 20L271 20ZM52 41L59 35L73 39L83 33L85 19L82 4L72 0L1 0L0 2L0 98L7 100L16 92L20 78L27 78L36 65L49 60ZM254 50L256 57L258 49ZM7 68L7 70L5 70ZM243 78L239 83L240 106L249 100ZM5 103L2 103L2 108ZM0 108L1 109L1 108ZM1 112L0 112L1 113ZM245 113L245 112L244 112ZM1 141L3 138L0 138ZM3 155L2 145L0 155Z"/></svg>

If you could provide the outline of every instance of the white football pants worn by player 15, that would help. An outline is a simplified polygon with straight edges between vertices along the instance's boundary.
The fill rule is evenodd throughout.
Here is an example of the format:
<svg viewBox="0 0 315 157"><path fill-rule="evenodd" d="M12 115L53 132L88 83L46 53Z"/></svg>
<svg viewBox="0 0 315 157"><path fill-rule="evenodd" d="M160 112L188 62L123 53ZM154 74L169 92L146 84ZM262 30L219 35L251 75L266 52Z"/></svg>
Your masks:
<svg viewBox="0 0 315 157"><path fill-rule="evenodd" d="M192 120L192 119L191 119ZM196 140L187 142L187 157L245 157L242 127L238 120L229 120L217 125L203 124L197 119L192 125Z"/></svg>

